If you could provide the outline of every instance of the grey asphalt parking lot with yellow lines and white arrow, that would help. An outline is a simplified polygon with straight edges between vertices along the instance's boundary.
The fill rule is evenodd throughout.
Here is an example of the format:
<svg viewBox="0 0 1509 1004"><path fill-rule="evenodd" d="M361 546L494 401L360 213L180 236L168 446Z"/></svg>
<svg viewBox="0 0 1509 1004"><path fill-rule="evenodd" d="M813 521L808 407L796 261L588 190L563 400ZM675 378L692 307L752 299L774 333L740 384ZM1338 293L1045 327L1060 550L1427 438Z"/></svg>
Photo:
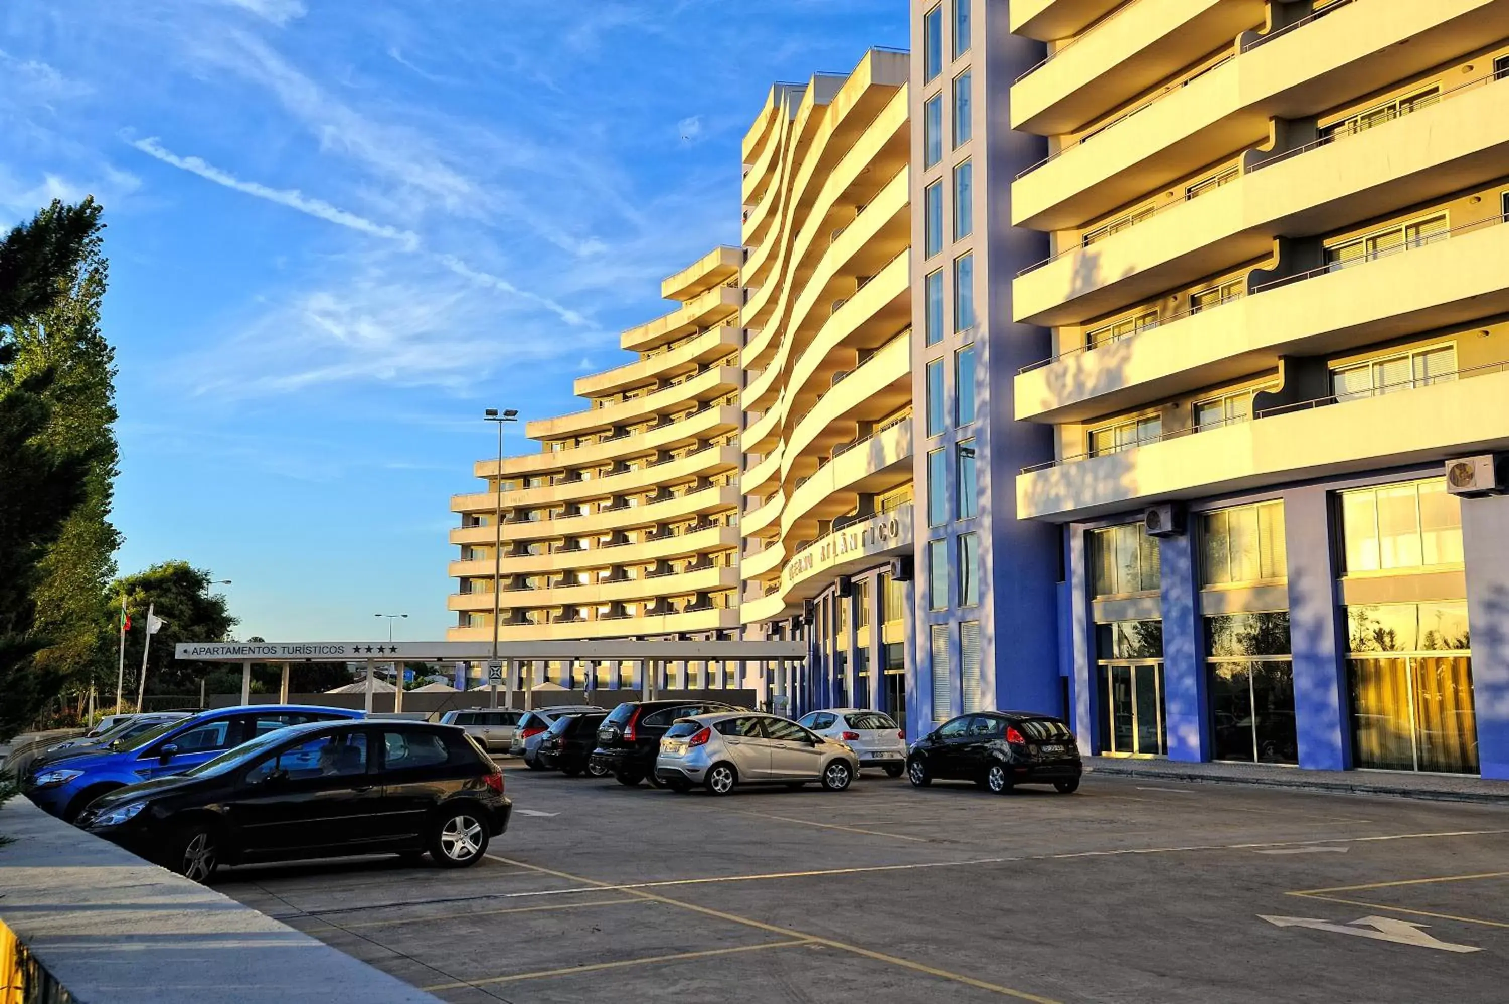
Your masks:
<svg viewBox="0 0 1509 1004"><path fill-rule="evenodd" d="M1086 776L676 796L507 770L466 871L216 886L447 1001L1500 1001L1509 809ZM1360 922L1361 921L1361 922Z"/></svg>

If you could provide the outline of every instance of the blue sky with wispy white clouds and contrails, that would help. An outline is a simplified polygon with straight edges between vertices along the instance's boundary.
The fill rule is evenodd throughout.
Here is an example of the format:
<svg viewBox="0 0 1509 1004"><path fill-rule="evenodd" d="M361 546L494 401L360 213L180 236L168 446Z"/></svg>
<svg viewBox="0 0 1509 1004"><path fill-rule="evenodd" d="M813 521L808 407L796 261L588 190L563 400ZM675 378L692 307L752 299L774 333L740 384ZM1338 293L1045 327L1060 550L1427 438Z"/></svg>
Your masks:
<svg viewBox="0 0 1509 1004"><path fill-rule="evenodd" d="M736 243L770 85L905 44L905 0L6 0L0 222L106 205L121 569L442 637L481 411L573 411Z"/></svg>

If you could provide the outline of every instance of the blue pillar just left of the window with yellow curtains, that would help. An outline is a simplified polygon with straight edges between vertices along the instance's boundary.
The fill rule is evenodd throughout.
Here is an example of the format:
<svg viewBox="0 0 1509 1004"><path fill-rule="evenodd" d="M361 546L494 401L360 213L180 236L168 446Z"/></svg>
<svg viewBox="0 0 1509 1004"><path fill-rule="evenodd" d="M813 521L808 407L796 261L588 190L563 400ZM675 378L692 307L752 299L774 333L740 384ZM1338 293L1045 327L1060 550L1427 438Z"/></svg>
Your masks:
<svg viewBox="0 0 1509 1004"><path fill-rule="evenodd" d="M1348 770L1352 765L1352 743L1343 658L1346 625L1338 608L1331 507L1325 488L1284 492L1284 536L1299 765Z"/></svg>

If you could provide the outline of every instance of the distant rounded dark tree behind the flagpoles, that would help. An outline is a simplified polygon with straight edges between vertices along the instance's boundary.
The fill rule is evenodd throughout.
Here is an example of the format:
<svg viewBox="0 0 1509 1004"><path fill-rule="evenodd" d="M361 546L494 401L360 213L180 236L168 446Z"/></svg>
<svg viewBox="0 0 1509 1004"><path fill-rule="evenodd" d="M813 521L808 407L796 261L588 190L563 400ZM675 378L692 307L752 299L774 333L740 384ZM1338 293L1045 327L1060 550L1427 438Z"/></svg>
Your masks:
<svg viewBox="0 0 1509 1004"><path fill-rule="evenodd" d="M152 636L146 661L146 693L199 694L199 678L219 669L216 663L178 661L180 642L223 642L235 627L225 596L210 592L210 572L189 562L163 562L145 572L127 575L110 589L110 622L121 616L121 596L131 614L125 633L127 701L134 701L146 642L146 613L154 610L163 628ZM240 684L237 684L240 690Z"/></svg>

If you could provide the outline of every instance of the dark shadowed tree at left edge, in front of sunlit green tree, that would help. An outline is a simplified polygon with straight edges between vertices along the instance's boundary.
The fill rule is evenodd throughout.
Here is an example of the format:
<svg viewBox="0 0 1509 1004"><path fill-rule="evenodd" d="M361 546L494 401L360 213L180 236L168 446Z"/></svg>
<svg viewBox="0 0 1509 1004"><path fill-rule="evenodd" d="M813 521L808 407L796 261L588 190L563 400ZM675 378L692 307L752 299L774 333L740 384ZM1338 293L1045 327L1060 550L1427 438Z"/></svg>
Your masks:
<svg viewBox="0 0 1509 1004"><path fill-rule="evenodd" d="M48 441L53 367L17 371L17 329L51 310L81 263L98 254L100 207L54 201L0 239L0 738L36 719L62 688L33 655L51 643L36 625L42 563L88 497L94 457Z"/></svg>

